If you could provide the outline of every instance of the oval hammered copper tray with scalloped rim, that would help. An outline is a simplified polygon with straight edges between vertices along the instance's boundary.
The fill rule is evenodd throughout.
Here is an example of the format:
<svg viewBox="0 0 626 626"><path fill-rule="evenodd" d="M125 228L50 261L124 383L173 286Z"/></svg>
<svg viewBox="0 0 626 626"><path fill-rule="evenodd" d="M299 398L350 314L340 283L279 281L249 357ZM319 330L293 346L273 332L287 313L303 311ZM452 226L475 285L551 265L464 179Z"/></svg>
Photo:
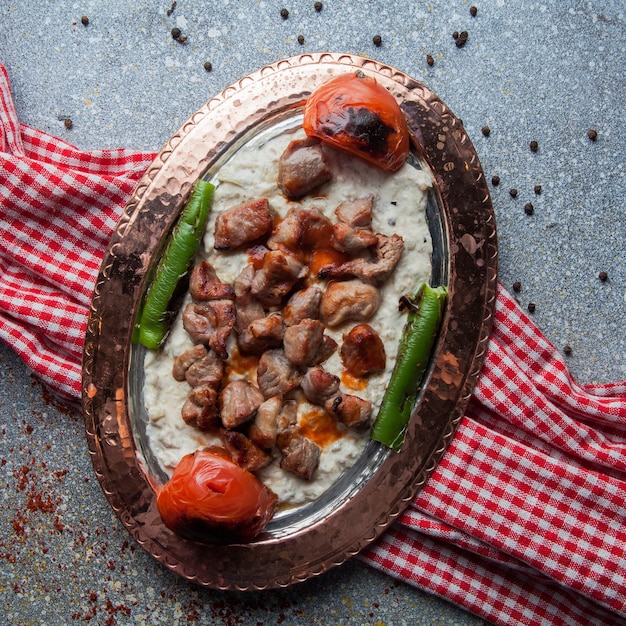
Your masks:
<svg viewBox="0 0 626 626"><path fill-rule="evenodd" d="M210 178L254 133L299 115L316 86L356 69L397 97L414 155L435 181L428 205L433 283L446 284L449 298L425 388L399 453L370 442L330 491L272 520L253 543L186 541L161 523L151 486L162 484L165 475L147 445L142 354L131 342L146 277L199 177ZM111 507L155 559L215 589L284 587L356 554L421 489L454 433L488 342L496 259L495 218L478 157L462 122L424 85L370 59L307 54L227 87L183 125L149 167L113 234L93 294L83 405L94 469Z"/></svg>

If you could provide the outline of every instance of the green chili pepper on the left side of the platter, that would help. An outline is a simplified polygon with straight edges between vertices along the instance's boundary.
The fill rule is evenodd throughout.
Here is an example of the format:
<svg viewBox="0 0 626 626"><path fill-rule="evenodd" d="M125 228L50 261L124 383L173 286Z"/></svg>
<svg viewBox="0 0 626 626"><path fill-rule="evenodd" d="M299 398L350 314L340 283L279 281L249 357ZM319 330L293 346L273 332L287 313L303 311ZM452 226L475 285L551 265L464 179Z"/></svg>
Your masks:
<svg viewBox="0 0 626 626"><path fill-rule="evenodd" d="M199 180L167 242L154 280L139 316L139 343L157 350L169 330L168 307L180 279L188 272L196 253L209 211L215 186Z"/></svg>

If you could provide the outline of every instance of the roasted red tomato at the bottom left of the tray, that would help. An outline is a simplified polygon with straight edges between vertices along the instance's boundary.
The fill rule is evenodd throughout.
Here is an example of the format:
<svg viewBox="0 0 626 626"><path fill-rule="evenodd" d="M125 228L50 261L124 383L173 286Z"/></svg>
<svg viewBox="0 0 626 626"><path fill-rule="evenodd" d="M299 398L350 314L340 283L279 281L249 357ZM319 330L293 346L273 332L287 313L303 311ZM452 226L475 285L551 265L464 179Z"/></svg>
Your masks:
<svg viewBox="0 0 626 626"><path fill-rule="evenodd" d="M157 495L163 523L203 543L247 542L274 515L278 497L225 455L185 455Z"/></svg>

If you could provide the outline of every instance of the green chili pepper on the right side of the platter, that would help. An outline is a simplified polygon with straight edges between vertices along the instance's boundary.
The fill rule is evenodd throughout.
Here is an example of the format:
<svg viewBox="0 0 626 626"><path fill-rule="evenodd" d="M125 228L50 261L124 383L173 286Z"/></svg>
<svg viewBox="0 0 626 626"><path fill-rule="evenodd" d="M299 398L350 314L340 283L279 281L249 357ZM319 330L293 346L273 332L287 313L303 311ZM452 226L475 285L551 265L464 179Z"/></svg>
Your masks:
<svg viewBox="0 0 626 626"><path fill-rule="evenodd" d="M398 358L372 429L372 439L399 450L415 407L430 353L441 324L445 287L422 283L410 299L413 310L404 327Z"/></svg>

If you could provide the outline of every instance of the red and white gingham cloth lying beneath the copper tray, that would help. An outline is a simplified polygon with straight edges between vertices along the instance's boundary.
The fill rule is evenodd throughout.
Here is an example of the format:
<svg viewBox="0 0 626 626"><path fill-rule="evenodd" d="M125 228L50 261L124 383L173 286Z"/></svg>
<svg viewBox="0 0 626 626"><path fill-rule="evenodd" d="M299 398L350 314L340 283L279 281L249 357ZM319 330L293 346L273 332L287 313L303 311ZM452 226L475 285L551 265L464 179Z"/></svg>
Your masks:
<svg viewBox="0 0 626 626"><path fill-rule="evenodd" d="M20 124L0 64L0 338L80 395L91 292L153 153ZM578 385L500 288L485 366L435 472L364 562L496 624L626 624L626 383Z"/></svg>

